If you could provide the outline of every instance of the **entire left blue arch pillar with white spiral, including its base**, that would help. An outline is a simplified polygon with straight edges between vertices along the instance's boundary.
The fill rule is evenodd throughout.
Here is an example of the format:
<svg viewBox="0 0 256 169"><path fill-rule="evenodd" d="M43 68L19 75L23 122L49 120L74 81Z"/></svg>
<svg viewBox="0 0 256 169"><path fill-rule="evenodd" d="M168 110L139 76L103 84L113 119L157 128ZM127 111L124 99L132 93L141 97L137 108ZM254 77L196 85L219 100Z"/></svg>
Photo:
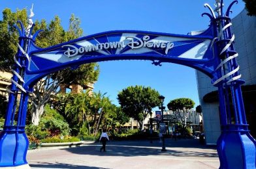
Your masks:
<svg viewBox="0 0 256 169"><path fill-rule="evenodd" d="M25 28L21 22L18 23L20 23L21 27L21 29L16 27L20 33L19 45L25 48L27 44ZM15 57L17 61L14 65L14 72L22 77L22 74L25 72L26 57L20 49L18 49ZM26 116L24 112L27 111L27 101L25 101L25 99L27 99L27 93L23 91L25 89L22 87L22 79L20 79L16 73L12 76L5 125L0 135L0 166L19 166L27 164L26 154L29 140L25 135L25 121L22 121ZM18 92L21 92L22 99L20 99L20 109L18 110L18 119L16 120Z"/></svg>

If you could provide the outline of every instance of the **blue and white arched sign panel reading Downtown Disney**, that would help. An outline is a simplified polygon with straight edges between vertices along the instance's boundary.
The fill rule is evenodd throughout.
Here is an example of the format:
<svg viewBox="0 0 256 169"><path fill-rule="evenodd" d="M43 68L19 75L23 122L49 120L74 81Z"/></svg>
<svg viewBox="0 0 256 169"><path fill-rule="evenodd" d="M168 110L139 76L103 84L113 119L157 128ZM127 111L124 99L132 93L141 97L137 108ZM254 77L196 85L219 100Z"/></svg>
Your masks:
<svg viewBox="0 0 256 169"><path fill-rule="evenodd" d="M152 60L177 62L211 75L214 59L212 27L196 36L148 31L109 31L40 49L31 43L25 79L29 83L57 69L106 60ZM195 62L195 60L197 60ZM201 64L198 64L198 63ZM207 67L207 68L206 68ZM31 80L32 79L32 80ZM25 86L29 84L25 83Z"/></svg>

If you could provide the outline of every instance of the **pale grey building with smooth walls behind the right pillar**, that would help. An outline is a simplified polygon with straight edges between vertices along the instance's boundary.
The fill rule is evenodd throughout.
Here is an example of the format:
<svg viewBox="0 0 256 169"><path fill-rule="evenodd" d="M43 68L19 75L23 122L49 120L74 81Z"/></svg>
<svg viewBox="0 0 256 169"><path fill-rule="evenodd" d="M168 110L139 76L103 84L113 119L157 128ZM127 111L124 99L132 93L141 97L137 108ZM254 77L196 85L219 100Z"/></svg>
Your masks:
<svg viewBox="0 0 256 169"><path fill-rule="evenodd" d="M248 16L243 10L232 19L232 32L235 35L234 47L238 52L241 79L245 81L242 86L244 105L251 135L255 137L256 101L256 17ZM206 144L216 144L221 134L219 122L219 102L217 88L211 83L210 77L196 71L197 87L204 124Z"/></svg>

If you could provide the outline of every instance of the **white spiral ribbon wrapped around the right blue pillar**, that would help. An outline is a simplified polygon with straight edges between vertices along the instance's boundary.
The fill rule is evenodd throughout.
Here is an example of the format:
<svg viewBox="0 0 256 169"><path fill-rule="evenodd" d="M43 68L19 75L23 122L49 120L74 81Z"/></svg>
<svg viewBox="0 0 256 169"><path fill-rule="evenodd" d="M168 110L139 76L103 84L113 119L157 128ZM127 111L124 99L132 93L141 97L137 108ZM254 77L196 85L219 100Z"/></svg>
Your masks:
<svg viewBox="0 0 256 169"><path fill-rule="evenodd" d="M227 25L225 25L225 27L223 27L221 29L221 32L219 32L219 36L217 38L214 38L214 40L212 40L212 45L214 44L214 42L218 39L221 38L223 31L225 31L225 29L228 29L232 24L229 23ZM235 59L236 57L238 57L238 53L234 52L234 51L229 51L229 47L232 45L232 42L234 42L234 34L232 35L232 38L229 40L229 43L227 45L225 45L225 47L223 47L223 49L221 50L221 53L219 55L222 55L224 52L227 52L229 54L233 54L230 55L229 57L227 57L227 59L223 60L216 68L215 71L219 70L219 68L223 69L223 66L225 63L229 62L231 59ZM227 83L231 83L232 81L236 81L237 79L240 79L241 75L236 75L234 76L234 73L238 72L239 70L239 66L237 65L236 68L234 70L232 70L229 73L226 73L225 75L222 75L221 77L219 77L219 79L217 79L216 81L214 81L213 85L217 85L217 83L223 81L224 79L226 79L227 77L230 77L230 79L227 81Z"/></svg>

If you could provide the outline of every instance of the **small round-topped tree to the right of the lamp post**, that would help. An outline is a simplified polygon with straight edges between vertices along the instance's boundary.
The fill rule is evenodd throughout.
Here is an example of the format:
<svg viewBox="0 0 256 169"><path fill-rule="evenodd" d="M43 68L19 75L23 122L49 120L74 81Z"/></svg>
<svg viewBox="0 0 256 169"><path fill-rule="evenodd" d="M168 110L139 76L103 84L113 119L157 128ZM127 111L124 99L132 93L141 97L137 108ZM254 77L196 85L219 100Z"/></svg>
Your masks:
<svg viewBox="0 0 256 169"><path fill-rule="evenodd" d="M183 123L184 127L187 125L187 116L189 114L189 110L192 109L195 105L195 102L192 99L189 98L178 98L171 100L167 107L169 110L172 110L180 120L181 123ZM182 118L184 120L182 120Z"/></svg>

